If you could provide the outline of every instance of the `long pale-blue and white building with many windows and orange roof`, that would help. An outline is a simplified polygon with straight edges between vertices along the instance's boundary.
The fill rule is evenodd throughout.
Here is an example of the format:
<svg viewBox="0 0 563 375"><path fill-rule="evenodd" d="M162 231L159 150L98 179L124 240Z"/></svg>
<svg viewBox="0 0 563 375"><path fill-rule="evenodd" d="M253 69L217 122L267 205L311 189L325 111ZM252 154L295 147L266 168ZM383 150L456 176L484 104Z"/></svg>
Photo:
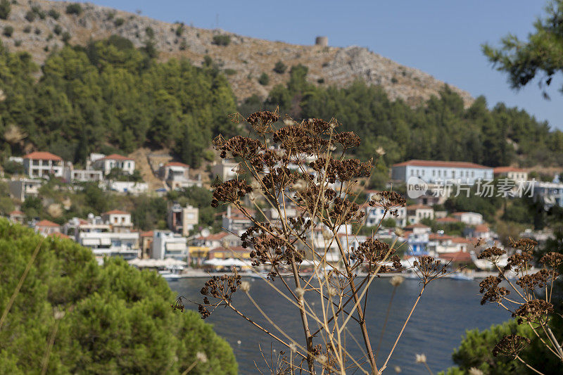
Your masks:
<svg viewBox="0 0 563 375"><path fill-rule="evenodd" d="M493 179L493 168L475 163L409 160L393 165L391 179L407 182L410 177L419 177L428 184L440 184L445 180L473 185L480 179Z"/></svg>

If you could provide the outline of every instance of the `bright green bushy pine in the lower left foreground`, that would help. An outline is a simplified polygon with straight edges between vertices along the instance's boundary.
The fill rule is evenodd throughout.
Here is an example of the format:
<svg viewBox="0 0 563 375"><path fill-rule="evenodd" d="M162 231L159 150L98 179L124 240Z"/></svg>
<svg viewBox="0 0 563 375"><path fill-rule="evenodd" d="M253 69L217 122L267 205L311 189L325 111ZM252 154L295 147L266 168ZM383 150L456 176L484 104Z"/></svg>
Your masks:
<svg viewBox="0 0 563 375"><path fill-rule="evenodd" d="M0 311L41 246L0 330L0 373L41 371L58 322L48 374L236 374L232 349L196 312L171 309L175 293L156 272L124 260L99 267L91 251L0 220Z"/></svg>

